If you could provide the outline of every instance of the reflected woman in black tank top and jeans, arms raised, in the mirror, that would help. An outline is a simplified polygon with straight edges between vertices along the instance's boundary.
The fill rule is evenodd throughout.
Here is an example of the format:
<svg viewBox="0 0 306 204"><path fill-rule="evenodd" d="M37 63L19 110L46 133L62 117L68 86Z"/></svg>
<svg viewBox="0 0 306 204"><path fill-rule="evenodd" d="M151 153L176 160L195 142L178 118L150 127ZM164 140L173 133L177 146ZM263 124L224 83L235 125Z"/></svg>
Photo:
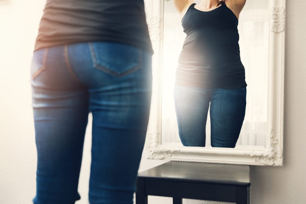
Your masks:
<svg viewBox="0 0 306 204"><path fill-rule="evenodd" d="M234 148L245 115L246 82L238 18L246 0L174 0L187 34L174 99L184 146L205 147L210 107L212 147Z"/></svg>

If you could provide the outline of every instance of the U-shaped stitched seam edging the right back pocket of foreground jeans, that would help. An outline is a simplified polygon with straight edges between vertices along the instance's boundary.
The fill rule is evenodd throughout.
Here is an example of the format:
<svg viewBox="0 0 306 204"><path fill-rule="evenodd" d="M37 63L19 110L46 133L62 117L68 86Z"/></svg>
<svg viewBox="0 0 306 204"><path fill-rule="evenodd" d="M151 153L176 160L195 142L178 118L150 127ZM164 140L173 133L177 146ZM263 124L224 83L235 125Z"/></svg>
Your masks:
<svg viewBox="0 0 306 204"><path fill-rule="evenodd" d="M98 68L99 70L105 72L105 73L108 73L114 77L118 77L118 78L121 78L121 77L125 77L127 75L129 75L130 73L132 72L135 72L136 70L140 69L141 67L141 63L142 63L142 60L141 60L141 50L139 50L139 53L138 53L138 64L133 67L131 70L123 73L123 74L117 74L116 72L113 72L109 69L107 69L106 67L103 67L101 65L99 65L96 61L96 55L95 55L95 52L94 52L94 49L93 49L93 46L92 46L92 43L91 42L88 42L88 46L89 46L89 49L90 49L90 54L91 54L91 59L92 59L92 63L93 63L93 67L96 67Z"/></svg>

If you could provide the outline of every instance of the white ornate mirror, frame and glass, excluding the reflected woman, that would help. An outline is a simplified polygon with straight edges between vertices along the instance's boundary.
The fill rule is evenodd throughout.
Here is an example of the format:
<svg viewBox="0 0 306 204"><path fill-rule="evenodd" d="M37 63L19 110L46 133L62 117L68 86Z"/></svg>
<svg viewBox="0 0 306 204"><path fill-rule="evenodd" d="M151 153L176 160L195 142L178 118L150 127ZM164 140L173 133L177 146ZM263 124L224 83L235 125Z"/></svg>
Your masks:
<svg viewBox="0 0 306 204"><path fill-rule="evenodd" d="M239 15L239 47L247 95L245 117L235 148L211 147L210 114L205 128L205 147L183 146L175 112L174 85L186 34L172 0L145 2L151 8L147 18L150 35L154 37L153 61L160 65L155 68L153 81L158 91L152 100L156 98L158 104L152 103L151 115L154 111L158 114L149 123L149 127L155 127L148 131L151 138L147 145L148 158L282 165L285 1L247 0ZM160 19L154 16L158 12ZM160 40L156 37L158 32Z"/></svg>

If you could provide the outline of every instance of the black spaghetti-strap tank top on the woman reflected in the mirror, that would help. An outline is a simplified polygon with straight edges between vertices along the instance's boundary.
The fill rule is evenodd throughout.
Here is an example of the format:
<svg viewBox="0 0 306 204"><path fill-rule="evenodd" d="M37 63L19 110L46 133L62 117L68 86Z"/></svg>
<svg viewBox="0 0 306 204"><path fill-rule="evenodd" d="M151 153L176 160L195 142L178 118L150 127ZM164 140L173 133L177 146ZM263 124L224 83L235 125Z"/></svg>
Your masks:
<svg viewBox="0 0 306 204"><path fill-rule="evenodd" d="M182 19L187 34L176 69L176 86L246 87L240 60L238 19L224 2L211 11L191 4Z"/></svg>

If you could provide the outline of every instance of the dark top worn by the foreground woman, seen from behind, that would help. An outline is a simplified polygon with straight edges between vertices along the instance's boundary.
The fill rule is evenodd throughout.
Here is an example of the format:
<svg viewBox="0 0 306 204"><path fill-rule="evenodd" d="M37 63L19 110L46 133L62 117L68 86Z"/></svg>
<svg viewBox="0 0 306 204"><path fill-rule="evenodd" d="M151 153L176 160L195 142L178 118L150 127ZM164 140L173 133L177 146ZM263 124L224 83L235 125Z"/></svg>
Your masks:
<svg viewBox="0 0 306 204"><path fill-rule="evenodd" d="M153 53L143 0L47 0L34 50L113 41Z"/></svg>

